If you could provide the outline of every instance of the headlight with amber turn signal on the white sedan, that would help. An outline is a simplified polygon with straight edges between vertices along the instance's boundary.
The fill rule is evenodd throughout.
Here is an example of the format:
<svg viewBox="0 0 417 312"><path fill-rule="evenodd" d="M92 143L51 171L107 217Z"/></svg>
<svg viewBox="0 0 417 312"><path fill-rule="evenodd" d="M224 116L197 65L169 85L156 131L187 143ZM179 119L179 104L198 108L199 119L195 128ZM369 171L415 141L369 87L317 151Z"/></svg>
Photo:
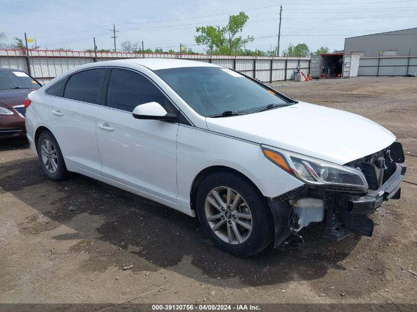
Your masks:
<svg viewBox="0 0 417 312"><path fill-rule="evenodd" d="M261 147L267 159L310 185L332 185L367 190L359 170L282 149Z"/></svg>

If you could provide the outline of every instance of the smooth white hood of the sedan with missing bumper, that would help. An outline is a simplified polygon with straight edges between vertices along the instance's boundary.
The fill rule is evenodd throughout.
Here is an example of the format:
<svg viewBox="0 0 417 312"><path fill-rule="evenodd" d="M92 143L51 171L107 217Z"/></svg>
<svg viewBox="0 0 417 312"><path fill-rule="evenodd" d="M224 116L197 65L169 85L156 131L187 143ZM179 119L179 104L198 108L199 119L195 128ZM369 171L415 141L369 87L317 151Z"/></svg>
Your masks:
<svg viewBox="0 0 417 312"><path fill-rule="evenodd" d="M206 122L210 131L340 165L395 140L391 132L365 117L304 102L248 115L206 118Z"/></svg>

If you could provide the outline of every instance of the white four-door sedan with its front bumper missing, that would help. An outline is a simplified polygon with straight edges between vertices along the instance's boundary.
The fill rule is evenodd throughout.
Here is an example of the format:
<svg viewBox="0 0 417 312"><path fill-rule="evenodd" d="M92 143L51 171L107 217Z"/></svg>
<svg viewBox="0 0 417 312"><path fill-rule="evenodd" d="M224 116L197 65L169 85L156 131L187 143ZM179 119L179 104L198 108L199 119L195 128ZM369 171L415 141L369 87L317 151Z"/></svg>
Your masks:
<svg viewBox="0 0 417 312"><path fill-rule="evenodd" d="M25 106L48 177L81 173L197 216L241 257L323 220L329 239L371 236L368 215L400 197L406 171L401 144L371 120L209 63L91 63Z"/></svg>

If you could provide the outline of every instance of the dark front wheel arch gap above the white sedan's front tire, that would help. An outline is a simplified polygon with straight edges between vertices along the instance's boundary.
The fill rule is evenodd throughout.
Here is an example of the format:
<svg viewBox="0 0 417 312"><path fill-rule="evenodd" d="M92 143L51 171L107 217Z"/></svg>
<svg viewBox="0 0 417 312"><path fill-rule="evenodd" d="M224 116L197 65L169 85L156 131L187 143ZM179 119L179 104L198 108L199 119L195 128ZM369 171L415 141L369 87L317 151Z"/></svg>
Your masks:
<svg viewBox="0 0 417 312"><path fill-rule="evenodd" d="M201 170L195 177L194 180L192 181L191 184L191 190L190 190L190 207L192 210L195 210L195 204L196 204L196 200L197 200L197 191L198 191L198 187L201 185L201 182L209 175L213 174L213 173L221 173L221 172L227 172L227 173L234 173L238 176L240 176L242 179L245 179L249 184L251 184L254 188L254 190L256 190L262 197L265 198L264 194L262 194L261 190L259 189L259 187L249 178L247 177L245 174L237 171L236 169L227 167L227 166L210 166L207 167L203 170ZM266 200L266 198L265 198Z"/></svg>

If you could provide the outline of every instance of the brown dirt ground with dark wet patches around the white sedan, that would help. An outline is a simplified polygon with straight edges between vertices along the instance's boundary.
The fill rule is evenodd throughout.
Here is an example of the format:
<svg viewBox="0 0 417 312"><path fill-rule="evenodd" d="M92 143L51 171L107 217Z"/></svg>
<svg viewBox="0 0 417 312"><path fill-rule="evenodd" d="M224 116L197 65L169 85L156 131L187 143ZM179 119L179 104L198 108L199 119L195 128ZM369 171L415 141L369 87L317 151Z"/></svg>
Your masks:
<svg viewBox="0 0 417 312"><path fill-rule="evenodd" d="M417 183L417 78L272 86L386 127ZM194 218L85 176L53 182L25 139L0 141L0 303L118 303L159 287L133 302L416 303L416 202L417 185L403 183L372 216L372 238L330 242L318 224L303 229L302 250L239 259L198 243Z"/></svg>

